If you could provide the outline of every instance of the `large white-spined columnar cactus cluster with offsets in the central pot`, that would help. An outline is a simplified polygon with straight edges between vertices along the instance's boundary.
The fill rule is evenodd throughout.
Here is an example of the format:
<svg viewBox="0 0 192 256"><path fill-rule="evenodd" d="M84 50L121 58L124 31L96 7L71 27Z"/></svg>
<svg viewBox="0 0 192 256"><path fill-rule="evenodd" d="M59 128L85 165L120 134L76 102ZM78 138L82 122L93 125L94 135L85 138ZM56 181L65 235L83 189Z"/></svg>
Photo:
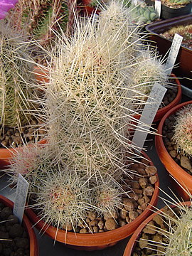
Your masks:
<svg viewBox="0 0 192 256"><path fill-rule="evenodd" d="M124 177L130 178L129 164L140 157L128 124L144 95L132 80L142 40L130 17L129 9L111 1L97 20L76 18L70 39L63 31L55 33L55 47L46 50L49 82L43 87L42 119L48 144L26 167L33 181L40 174L30 189L48 225L75 231L87 210L112 215L122 206ZM26 150L12 160L12 181L20 172L19 159L29 160L33 147Z"/></svg>

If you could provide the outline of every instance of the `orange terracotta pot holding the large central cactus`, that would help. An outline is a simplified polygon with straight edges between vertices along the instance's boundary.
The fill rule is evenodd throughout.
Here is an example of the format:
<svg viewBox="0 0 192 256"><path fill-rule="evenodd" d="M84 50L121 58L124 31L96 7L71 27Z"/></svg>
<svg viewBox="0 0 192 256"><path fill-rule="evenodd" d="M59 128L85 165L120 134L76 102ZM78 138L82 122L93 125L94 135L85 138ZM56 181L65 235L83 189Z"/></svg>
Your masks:
<svg viewBox="0 0 192 256"><path fill-rule="evenodd" d="M149 157L146 156L145 153L142 154L144 155L144 157L149 159ZM149 161L150 165L153 165L150 159ZM155 183L154 194L151 198L149 206L144 210L144 212L131 223L127 223L127 225L104 233L75 234L73 232L68 231L66 234L65 230L58 230L57 233L56 228L54 228L51 225L46 225L46 223L44 223L43 220L38 218L36 213L34 213L33 210L31 210L31 208L26 209L26 214L38 230L41 230L43 233L46 233L46 235L48 235L50 238L53 238L58 242L63 242L66 245L70 245L70 247L73 246L74 249L78 250L102 250L105 247L115 245L120 240L123 240L124 238L127 238L129 235L132 235L132 233L134 232L134 230L136 230L140 223L142 223L146 219L146 217L148 217L151 214L150 209L153 208L153 206L156 206L156 203L158 201L158 195L159 178L158 181Z"/></svg>

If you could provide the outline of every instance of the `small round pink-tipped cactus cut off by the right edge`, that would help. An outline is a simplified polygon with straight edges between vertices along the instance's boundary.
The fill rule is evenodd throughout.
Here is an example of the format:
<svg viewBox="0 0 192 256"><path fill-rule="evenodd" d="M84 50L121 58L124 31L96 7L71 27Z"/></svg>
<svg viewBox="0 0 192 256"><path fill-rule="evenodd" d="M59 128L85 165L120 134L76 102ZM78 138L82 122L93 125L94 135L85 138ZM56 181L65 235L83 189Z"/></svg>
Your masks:
<svg viewBox="0 0 192 256"><path fill-rule="evenodd" d="M192 105L183 107L176 113L172 139L178 151L192 156Z"/></svg>

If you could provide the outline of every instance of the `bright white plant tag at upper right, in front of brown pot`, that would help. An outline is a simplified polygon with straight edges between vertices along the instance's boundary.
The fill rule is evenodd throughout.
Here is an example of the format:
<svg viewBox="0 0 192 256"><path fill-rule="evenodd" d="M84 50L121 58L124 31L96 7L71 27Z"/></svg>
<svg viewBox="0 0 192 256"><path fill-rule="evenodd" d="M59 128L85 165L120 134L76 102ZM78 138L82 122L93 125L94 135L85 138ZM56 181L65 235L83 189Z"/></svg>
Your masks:
<svg viewBox="0 0 192 256"><path fill-rule="evenodd" d="M166 60L166 68L167 68L167 74L170 75L171 71L174 67L174 64L176 62L176 58L178 55L178 50L181 46L181 42L183 40L183 36L178 35L175 33L174 40L171 44L171 49L169 51L169 56Z"/></svg>

